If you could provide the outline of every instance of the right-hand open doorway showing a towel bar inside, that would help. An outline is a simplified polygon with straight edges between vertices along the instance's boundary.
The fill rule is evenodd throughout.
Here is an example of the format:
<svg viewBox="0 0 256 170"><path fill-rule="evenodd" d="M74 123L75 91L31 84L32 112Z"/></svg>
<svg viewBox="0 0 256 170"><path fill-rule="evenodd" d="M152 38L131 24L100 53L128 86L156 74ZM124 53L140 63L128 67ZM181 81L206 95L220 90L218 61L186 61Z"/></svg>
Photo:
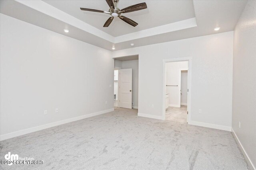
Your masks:
<svg viewBox="0 0 256 170"><path fill-rule="evenodd" d="M164 115L166 120L188 123L189 60L164 61Z"/></svg>

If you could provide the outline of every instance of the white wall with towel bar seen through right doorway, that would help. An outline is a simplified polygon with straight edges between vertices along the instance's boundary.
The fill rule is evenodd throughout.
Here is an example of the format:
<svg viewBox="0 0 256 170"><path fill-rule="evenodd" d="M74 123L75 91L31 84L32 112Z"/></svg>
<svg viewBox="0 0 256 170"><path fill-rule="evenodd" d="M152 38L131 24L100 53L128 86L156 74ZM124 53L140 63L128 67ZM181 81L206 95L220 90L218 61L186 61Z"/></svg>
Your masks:
<svg viewBox="0 0 256 170"><path fill-rule="evenodd" d="M180 69L188 68L188 61L166 63L166 86L169 93L169 106L180 107Z"/></svg>

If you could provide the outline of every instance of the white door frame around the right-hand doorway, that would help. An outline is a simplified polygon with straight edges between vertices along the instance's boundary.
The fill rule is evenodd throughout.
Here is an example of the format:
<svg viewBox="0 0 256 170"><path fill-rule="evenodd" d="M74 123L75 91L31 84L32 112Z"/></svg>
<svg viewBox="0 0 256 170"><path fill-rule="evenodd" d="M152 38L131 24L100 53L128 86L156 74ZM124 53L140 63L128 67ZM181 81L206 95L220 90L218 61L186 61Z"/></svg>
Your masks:
<svg viewBox="0 0 256 170"><path fill-rule="evenodd" d="M191 80L192 80L192 57L182 57L175 59L163 59L163 81L162 81L162 119L165 120L165 93L166 93L166 63L188 61L188 123L191 121ZM180 96L180 95L179 95ZM180 100L179 100L180 101Z"/></svg>

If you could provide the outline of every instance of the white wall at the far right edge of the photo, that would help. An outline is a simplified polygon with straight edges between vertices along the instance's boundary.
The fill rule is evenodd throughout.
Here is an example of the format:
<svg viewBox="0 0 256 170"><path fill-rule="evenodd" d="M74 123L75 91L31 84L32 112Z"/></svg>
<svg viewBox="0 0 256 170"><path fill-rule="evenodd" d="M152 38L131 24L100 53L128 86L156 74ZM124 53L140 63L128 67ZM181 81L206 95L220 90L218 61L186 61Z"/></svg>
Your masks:
<svg viewBox="0 0 256 170"><path fill-rule="evenodd" d="M234 30L232 110L232 128L256 168L256 1L248 1Z"/></svg>

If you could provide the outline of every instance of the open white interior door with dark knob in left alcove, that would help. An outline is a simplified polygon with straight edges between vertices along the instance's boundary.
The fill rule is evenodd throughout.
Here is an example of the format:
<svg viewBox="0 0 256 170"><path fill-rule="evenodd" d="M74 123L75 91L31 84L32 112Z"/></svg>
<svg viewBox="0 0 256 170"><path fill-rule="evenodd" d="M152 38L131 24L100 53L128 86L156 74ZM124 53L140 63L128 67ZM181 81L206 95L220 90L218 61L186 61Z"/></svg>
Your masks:
<svg viewBox="0 0 256 170"><path fill-rule="evenodd" d="M132 68L119 70L119 107L132 109Z"/></svg>

